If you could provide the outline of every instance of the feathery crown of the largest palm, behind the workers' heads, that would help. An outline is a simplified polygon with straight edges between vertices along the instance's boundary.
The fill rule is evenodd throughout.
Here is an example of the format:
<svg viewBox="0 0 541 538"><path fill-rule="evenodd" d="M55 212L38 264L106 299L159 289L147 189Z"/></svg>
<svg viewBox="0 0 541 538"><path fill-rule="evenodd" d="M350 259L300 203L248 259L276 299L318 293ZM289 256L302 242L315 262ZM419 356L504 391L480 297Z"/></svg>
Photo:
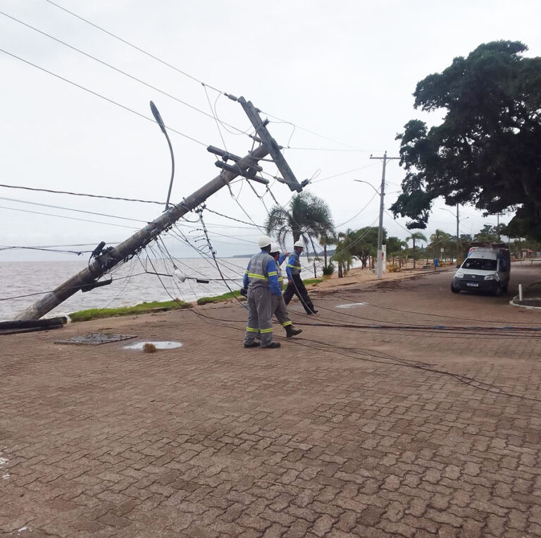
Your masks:
<svg viewBox="0 0 541 538"><path fill-rule="evenodd" d="M270 209L265 228L282 245L287 234L291 233L294 241L302 238L306 245L310 242L314 250L314 239L330 236L334 232L326 202L306 191L294 195L287 209L280 205Z"/></svg>

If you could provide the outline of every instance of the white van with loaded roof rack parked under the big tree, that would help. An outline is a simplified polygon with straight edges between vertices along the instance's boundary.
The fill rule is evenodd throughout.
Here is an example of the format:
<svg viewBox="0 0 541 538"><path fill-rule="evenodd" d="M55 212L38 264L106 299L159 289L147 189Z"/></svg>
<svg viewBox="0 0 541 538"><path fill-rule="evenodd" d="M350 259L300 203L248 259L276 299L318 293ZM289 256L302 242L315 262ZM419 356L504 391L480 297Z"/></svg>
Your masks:
<svg viewBox="0 0 541 538"><path fill-rule="evenodd" d="M511 258L504 246L471 247L468 257L453 276L451 291L507 293Z"/></svg>

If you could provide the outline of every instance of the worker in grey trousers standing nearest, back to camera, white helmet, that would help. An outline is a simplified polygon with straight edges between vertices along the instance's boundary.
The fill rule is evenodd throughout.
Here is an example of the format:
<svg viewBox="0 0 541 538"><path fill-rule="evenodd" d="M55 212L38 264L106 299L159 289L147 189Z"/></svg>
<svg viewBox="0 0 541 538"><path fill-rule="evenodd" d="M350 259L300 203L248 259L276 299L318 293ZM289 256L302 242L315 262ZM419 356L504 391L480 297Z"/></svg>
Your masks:
<svg viewBox="0 0 541 538"><path fill-rule="evenodd" d="M262 348L279 348L273 342L273 296L282 297L278 286L275 259L270 256L270 238L261 236L257 241L261 252L251 257L242 281L247 288L248 323L244 335L244 347L255 348L260 344L256 336L261 334Z"/></svg>

